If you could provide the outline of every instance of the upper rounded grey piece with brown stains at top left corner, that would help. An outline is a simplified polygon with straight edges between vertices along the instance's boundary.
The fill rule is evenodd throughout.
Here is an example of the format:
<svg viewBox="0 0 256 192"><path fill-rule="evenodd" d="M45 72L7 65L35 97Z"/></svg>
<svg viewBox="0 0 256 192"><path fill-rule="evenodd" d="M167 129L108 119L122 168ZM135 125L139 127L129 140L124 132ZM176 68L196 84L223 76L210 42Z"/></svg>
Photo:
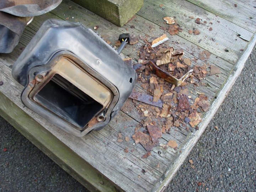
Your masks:
<svg viewBox="0 0 256 192"><path fill-rule="evenodd" d="M0 11L19 17L33 17L55 9L62 0L1 0Z"/></svg>

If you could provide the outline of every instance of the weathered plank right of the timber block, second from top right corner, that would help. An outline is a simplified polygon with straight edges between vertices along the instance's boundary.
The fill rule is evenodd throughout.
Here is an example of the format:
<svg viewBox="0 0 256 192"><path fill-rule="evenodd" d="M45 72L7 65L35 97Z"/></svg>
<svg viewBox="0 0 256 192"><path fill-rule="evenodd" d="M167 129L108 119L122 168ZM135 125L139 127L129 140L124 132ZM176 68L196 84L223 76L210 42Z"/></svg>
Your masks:
<svg viewBox="0 0 256 192"><path fill-rule="evenodd" d="M204 9L186 0L174 0L171 4L166 3L164 0L159 0L158 4L163 4L164 6L161 8L155 2L146 1L137 14L159 26L165 25L162 17L175 16L177 23L183 28L182 32L178 34L179 36L233 64L239 58L240 49L245 49L247 44L244 40L238 38L237 35L242 34L242 36L247 37L246 39L251 38L253 35L252 32L234 25L221 17L216 17L214 14L206 12ZM190 19L188 16L203 18L203 21L206 21L207 24L198 25L194 19ZM211 25L209 22L213 24ZM210 26L213 28L213 31L208 30ZM197 36L188 34L188 30L193 28L199 29L201 33ZM215 40L212 41L212 38ZM226 49L229 50L228 54L225 52Z"/></svg>

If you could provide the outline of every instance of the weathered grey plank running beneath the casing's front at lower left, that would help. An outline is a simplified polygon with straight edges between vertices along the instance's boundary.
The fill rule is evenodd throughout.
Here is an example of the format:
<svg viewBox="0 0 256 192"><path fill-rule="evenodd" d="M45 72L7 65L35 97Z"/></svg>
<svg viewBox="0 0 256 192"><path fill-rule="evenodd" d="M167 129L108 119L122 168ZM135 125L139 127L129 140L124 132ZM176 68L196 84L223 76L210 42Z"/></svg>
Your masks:
<svg viewBox="0 0 256 192"><path fill-rule="evenodd" d="M10 73L10 69L6 69L6 66L2 62L0 62L0 66L0 69L5 69L5 72L9 70ZM58 127L55 127L52 124L48 123L45 119L42 119L42 117L23 106L20 101L21 91L18 90L17 92L17 90L12 89L10 87L11 84L9 84L9 81L14 84L17 84L17 82L15 82L15 80L13 80L10 76L5 75L4 73L1 73L1 76L6 80L4 80L5 86L1 86L0 88L2 89L0 89L0 91L5 94L6 97L9 97L10 100L15 102L16 105L18 105L18 107L22 108L23 111L28 113L29 116L36 119L36 121L41 124L44 129L47 129L50 132L55 133L55 136L58 135L60 138L62 138L61 140L63 143L66 143L70 148L72 148L72 150L78 153L79 156L81 156L83 159L86 159L89 164L102 172L102 174L105 175L108 179L110 179L111 181L116 181L116 183L118 183L119 185L122 182L128 183L123 186L124 189L129 188L129 190L137 191L137 189L139 188L140 190L144 189L145 191L149 191L150 186L152 187L152 184L144 180L143 176L140 176L139 178L135 177L135 175L133 175L133 171L135 169L130 170L126 168L126 165L134 165L132 162L123 158L119 154L111 152L112 149L108 148L106 145L101 144L99 140L95 140L92 135L86 136L84 138L74 137L73 135L66 134ZM10 89L8 89L8 87L10 87ZM20 86L20 89L22 89L22 86ZM76 146L83 146L83 148L77 151ZM112 154L111 160L106 159L106 156L103 155L107 152ZM97 159L97 161L95 161L94 159ZM117 162L119 165L118 167L116 167ZM116 178L116 176L118 178ZM148 177L146 179L148 179Z"/></svg>

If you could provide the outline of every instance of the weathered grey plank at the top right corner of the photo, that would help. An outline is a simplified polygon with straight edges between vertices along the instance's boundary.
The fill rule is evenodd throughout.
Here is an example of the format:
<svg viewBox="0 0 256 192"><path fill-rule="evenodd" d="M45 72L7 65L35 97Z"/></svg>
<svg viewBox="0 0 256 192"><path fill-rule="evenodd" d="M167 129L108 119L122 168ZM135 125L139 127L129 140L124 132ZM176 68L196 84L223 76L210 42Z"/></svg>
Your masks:
<svg viewBox="0 0 256 192"><path fill-rule="evenodd" d="M248 31L256 32L256 18L255 11L252 7L250 11L241 9L240 5L246 4L245 1L240 1L237 7L234 6L234 1L221 1L215 0L214 3L211 0L188 0L193 4L202 7L203 9L210 11L238 26L245 28ZM255 4L255 2L254 2ZM255 6L255 5L253 5Z"/></svg>

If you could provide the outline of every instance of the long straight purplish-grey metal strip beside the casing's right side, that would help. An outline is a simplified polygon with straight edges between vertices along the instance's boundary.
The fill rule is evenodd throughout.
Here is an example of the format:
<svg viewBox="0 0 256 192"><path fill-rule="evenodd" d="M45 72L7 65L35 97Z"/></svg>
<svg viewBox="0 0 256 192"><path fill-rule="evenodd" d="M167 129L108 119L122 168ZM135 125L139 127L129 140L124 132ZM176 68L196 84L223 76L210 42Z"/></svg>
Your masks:
<svg viewBox="0 0 256 192"><path fill-rule="evenodd" d="M133 90L132 94L129 96L129 98L135 99L137 101L141 101L143 103L147 103L149 105L154 105L156 107L162 107L161 100L158 100L158 102L153 102L153 96L144 94L144 93L140 93L140 92L137 92L134 90Z"/></svg>

